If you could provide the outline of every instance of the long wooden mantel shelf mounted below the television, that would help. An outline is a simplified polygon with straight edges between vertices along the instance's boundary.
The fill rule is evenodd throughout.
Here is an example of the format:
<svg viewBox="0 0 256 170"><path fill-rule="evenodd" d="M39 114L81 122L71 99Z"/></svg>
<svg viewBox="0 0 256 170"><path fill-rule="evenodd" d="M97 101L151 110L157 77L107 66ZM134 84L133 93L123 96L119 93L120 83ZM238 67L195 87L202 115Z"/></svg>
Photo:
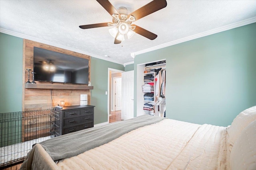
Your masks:
<svg viewBox="0 0 256 170"><path fill-rule="evenodd" d="M73 85L73 84L32 84L32 83L26 83L25 88L92 90L93 86Z"/></svg>

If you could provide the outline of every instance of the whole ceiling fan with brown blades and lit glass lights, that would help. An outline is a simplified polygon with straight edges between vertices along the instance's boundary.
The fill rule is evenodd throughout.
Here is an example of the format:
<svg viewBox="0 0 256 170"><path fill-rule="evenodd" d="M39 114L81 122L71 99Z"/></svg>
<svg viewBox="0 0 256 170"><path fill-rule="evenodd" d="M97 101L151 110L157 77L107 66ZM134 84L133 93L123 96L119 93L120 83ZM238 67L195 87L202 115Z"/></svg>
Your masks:
<svg viewBox="0 0 256 170"><path fill-rule="evenodd" d="M130 39L134 33L138 33L148 39L156 39L157 35L132 22L139 20L167 6L166 0L153 0L138 10L130 13L127 8L119 7L118 10L108 0L97 0L97 2L112 16L112 22L80 25L82 29L114 26L109 29L110 35L115 38L114 44L119 44L125 39Z"/></svg>

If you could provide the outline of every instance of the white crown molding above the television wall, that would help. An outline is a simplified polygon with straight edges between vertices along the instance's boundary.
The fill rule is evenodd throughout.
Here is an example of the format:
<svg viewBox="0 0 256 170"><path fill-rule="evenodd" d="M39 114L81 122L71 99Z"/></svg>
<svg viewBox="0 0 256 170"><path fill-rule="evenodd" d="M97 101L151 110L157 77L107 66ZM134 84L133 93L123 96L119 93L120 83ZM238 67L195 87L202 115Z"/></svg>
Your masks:
<svg viewBox="0 0 256 170"><path fill-rule="evenodd" d="M14 32L14 31L10 31L8 29L0 28L0 32L8 34L8 35L15 36L15 37L19 37L19 38L23 38L23 39L28 39L28 40L31 40L31 41L36 41L38 43L44 43L44 44L51 45L51 46L54 46L54 47L66 49L66 50L69 50L69 51L74 51L76 53L81 53L81 54L84 54L84 55L89 55L89 56L97 58L97 59L102 59L102 60L110 61L110 62L113 62L113 63L121 64L121 65L124 64L124 63L121 63L121 62L117 62L116 60L112 60L112 59L109 59L109 58L104 58L104 57L101 57L99 55L95 55L95 54L92 54L92 53L87 53L87 52L82 51L82 50L70 48L70 47L67 47L65 45L60 45L60 44L52 43L50 41L45 41L43 39L39 39L39 38L32 37L32 36L29 36L29 35L25 35L25 34L22 34L22 33L17 33L17 32Z"/></svg>

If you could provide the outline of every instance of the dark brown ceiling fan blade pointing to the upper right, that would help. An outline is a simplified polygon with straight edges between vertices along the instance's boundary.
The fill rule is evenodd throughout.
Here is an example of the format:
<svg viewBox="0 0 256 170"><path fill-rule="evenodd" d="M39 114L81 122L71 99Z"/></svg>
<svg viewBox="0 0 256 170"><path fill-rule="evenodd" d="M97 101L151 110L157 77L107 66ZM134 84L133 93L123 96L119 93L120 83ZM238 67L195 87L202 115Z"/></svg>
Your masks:
<svg viewBox="0 0 256 170"><path fill-rule="evenodd" d="M138 10L132 12L130 15L134 16L136 21L143 18L153 12L161 10L167 6L166 0L153 0L152 2L142 6Z"/></svg>

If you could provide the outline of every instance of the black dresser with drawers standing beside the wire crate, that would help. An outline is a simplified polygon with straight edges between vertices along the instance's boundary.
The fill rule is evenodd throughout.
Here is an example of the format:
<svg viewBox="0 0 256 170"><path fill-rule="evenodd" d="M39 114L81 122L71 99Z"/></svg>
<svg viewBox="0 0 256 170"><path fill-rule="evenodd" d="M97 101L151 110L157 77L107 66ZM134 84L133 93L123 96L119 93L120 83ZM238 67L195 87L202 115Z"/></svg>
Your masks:
<svg viewBox="0 0 256 170"><path fill-rule="evenodd" d="M60 113L60 135L94 127L94 107L67 106L55 110Z"/></svg>

